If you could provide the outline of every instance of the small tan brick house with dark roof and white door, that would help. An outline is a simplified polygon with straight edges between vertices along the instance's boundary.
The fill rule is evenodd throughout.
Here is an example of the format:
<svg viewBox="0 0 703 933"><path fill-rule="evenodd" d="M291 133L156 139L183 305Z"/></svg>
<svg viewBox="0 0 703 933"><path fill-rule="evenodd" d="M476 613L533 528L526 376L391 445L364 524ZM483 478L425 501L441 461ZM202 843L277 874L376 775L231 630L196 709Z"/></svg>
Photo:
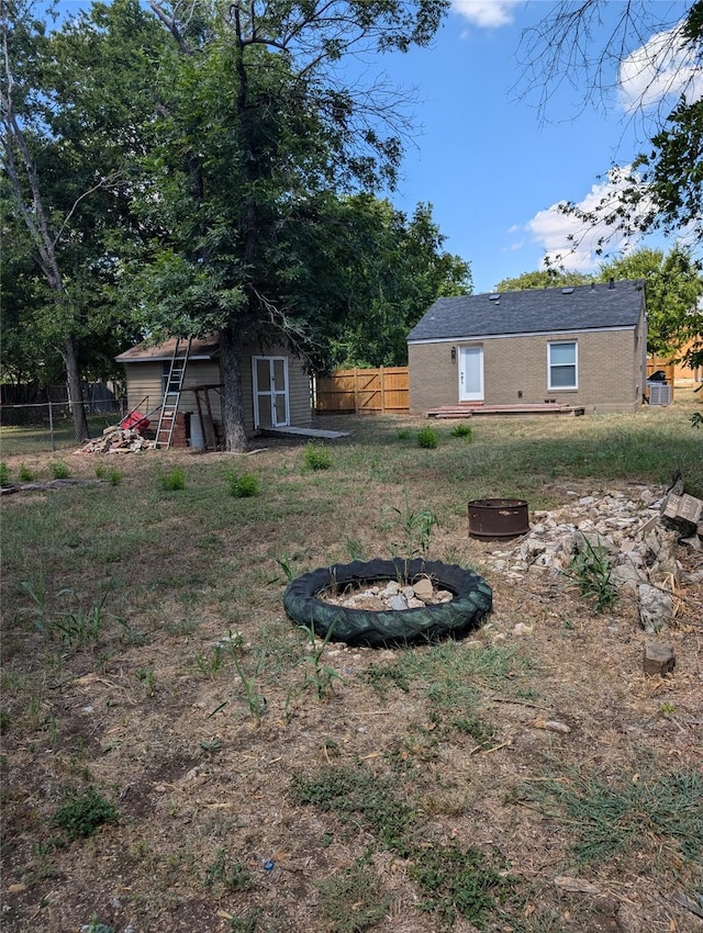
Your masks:
<svg viewBox="0 0 703 933"><path fill-rule="evenodd" d="M410 407L556 402L634 412L646 351L641 280L442 297L408 335Z"/></svg>

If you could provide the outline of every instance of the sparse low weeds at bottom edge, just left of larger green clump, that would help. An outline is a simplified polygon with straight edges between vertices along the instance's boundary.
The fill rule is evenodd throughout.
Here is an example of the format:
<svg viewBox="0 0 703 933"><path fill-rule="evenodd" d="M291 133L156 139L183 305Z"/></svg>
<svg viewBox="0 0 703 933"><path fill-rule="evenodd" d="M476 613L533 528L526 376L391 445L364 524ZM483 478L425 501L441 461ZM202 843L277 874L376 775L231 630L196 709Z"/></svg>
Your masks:
<svg viewBox="0 0 703 933"><path fill-rule="evenodd" d="M328 933L362 933L383 920L392 903L379 891L378 877L365 858L315 887Z"/></svg>

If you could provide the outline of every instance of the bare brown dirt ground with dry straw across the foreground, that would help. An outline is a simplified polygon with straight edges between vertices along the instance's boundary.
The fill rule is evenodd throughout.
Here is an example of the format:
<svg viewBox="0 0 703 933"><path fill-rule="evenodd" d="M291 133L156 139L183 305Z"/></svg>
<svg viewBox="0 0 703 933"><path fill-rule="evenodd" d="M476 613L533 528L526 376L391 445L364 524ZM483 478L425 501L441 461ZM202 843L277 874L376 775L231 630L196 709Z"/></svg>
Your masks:
<svg viewBox="0 0 703 933"><path fill-rule="evenodd" d="M21 509L20 495L11 498ZM439 529L438 544L451 546L453 533L458 539ZM481 569L496 547L470 542L471 563ZM297 775L353 766L394 776L413 802L421 845L501 853L524 899L517 920L484 929L700 933L703 919L682 900L703 890L700 861L660 844L643 818L650 844L578 864L577 828L555 817L556 805L539 807L521 790L569 775L627 785L701 768L703 552L681 547L679 560L677 618L656 637L641 631L626 599L596 614L561 577L487 574L493 612L456 650L514 649L502 683L473 683L477 710L493 730L488 742L437 726L426 684L375 688L369 672L393 668L404 649L331 642L322 657L337 675L331 689L298 690L300 632L270 602L238 627L249 672L261 630L275 632L267 667L249 685L265 696L260 718L230 663L209 675L193 668L202 645L223 637L214 607L202 612L197 643L174 626L103 664L77 652L45 671L34 705L20 684L5 684L2 929L70 933L97 918L115 933L362 930L349 919L354 904L346 926L323 915L317 883L364 856L378 897L390 899L368 929L444 929L423 909L411 859L375 844L362 820L343 821L291 790ZM37 633L23 638L24 656L40 650ZM644 675L652 638L676 652L670 677ZM59 845L56 801L88 782L114 799L120 820ZM225 884L225 859L246 868L245 889ZM576 890L565 877L577 878ZM453 929L479 928L458 917Z"/></svg>

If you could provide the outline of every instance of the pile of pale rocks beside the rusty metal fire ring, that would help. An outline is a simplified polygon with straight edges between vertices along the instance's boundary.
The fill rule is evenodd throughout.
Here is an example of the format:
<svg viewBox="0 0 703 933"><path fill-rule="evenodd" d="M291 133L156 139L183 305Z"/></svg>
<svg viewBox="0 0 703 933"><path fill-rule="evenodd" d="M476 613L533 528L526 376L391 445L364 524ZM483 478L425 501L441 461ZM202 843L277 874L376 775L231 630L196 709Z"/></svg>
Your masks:
<svg viewBox="0 0 703 933"><path fill-rule="evenodd" d="M511 580L535 573L557 576L590 550L607 562L616 589L636 597L643 628L665 628L673 617L672 591L680 575L677 549L680 543L701 549L696 526L677 527L666 517L671 512L668 496L646 487L631 496L617 491L571 495L562 508L535 512L529 533L513 547L487 554L489 569Z"/></svg>

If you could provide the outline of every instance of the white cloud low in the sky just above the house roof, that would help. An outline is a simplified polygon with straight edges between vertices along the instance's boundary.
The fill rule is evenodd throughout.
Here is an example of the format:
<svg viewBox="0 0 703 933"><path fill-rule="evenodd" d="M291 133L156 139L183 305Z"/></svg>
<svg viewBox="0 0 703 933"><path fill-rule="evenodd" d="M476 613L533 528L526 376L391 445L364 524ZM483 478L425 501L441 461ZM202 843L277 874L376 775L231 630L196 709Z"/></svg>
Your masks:
<svg viewBox="0 0 703 933"><path fill-rule="evenodd" d="M603 259L599 249L628 252L637 246L640 237L627 235L605 222L605 217L612 216L620 204L622 190L627 184L625 179L629 176L629 166L614 169L606 181L594 184L576 205L579 212L594 213L601 217L594 225L573 214L565 214L559 203L539 211L527 222L525 229L533 241L545 250L545 261L568 270L589 272ZM646 206L643 203L641 210Z"/></svg>

